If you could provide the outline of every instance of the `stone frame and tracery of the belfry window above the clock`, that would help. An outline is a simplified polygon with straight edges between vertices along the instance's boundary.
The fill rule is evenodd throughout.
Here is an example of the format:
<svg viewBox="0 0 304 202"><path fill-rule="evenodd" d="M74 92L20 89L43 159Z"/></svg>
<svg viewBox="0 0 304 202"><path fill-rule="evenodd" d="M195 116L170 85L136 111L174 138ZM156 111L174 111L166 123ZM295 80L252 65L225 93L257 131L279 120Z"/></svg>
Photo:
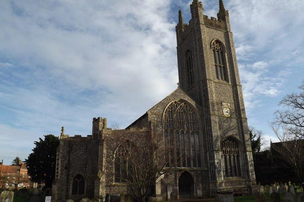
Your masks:
<svg viewBox="0 0 304 202"><path fill-rule="evenodd" d="M220 46L221 46L221 52L222 52L222 64L217 64L216 63L216 55L214 54L215 50L213 49L213 43L215 42L219 42ZM230 76L229 76L229 67L228 67L228 60L227 60L227 51L226 51L226 47L224 45L224 43L220 40L220 39L213 39L210 43L210 49L211 49L211 55L213 58L213 65L212 65L212 69L213 71L215 71L215 79L217 81L221 81L221 82L225 82L225 83L230 83ZM221 75L218 74L218 67L221 66L222 68L224 68L223 73L225 75L223 75L224 78L220 78Z"/></svg>

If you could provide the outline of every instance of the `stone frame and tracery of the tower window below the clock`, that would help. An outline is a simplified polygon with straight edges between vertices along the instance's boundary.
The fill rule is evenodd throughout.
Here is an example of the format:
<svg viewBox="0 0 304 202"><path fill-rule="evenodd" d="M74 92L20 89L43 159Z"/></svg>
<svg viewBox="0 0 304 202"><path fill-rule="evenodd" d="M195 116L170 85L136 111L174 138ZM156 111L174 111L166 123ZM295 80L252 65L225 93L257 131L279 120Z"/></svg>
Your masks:
<svg viewBox="0 0 304 202"><path fill-rule="evenodd" d="M226 141L226 142L225 142ZM224 150L224 143L227 144L227 141L230 141L230 143L234 143L236 145L232 145L232 151L231 148L226 151ZM230 145L231 146L231 145ZM242 177L242 155L241 155L241 142L237 138L235 138L232 135L226 136L221 140L221 153L222 153L222 162L223 162L223 174L225 178L229 177ZM227 161L227 156L229 156L229 162ZM228 163L234 164L233 167L228 165ZM227 169L228 167L228 169Z"/></svg>

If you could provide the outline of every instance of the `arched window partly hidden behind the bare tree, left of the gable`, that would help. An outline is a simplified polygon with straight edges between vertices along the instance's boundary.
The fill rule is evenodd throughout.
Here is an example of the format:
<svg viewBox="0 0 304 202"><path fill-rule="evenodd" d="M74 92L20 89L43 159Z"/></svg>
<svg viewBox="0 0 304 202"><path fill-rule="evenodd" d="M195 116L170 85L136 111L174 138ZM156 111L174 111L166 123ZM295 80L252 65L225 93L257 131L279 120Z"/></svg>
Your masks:
<svg viewBox="0 0 304 202"><path fill-rule="evenodd" d="M125 182L128 172L131 172L131 164L128 161L129 152L132 151L134 145L127 140L119 145L114 154L114 181Z"/></svg>

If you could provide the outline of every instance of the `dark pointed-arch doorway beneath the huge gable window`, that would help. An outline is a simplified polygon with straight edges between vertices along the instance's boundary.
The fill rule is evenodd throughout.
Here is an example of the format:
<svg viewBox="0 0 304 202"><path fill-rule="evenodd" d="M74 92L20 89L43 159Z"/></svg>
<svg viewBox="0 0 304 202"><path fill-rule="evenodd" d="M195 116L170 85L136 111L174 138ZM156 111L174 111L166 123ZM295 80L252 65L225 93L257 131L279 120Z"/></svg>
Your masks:
<svg viewBox="0 0 304 202"><path fill-rule="evenodd" d="M194 193L194 181L192 175L185 171L178 179L178 195L179 199L191 199Z"/></svg>

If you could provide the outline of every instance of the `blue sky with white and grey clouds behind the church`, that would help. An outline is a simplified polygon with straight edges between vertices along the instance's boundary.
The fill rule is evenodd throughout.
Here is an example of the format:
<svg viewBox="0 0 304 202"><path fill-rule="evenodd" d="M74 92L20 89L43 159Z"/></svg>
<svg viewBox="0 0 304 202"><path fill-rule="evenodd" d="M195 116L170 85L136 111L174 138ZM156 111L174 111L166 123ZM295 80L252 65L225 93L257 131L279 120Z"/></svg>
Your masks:
<svg viewBox="0 0 304 202"><path fill-rule="evenodd" d="M124 128L177 88L178 7L190 0L0 0L0 159L43 135ZM217 0L204 0L216 17ZM304 1L224 0L250 126L268 122L304 80Z"/></svg>

